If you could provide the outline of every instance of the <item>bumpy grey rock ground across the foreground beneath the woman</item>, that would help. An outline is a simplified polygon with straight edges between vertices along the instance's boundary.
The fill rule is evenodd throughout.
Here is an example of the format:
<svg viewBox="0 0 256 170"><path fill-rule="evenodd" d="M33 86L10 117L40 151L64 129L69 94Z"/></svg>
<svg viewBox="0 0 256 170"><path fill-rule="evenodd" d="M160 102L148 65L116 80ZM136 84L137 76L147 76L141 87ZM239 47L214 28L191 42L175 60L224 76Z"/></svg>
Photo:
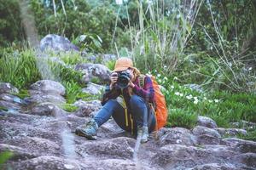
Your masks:
<svg viewBox="0 0 256 170"><path fill-rule="evenodd" d="M4 164L6 169L256 168L256 142L222 139L226 132L246 131L216 127L209 119L190 130L161 128L156 135L151 133L148 143L140 144L136 152L136 138L119 128L113 119L98 129L97 140L74 134L76 127L90 121L90 116L101 108L98 100L79 100L75 103L79 111L69 113L61 110L56 101L40 95L52 95L65 103L65 90L59 88L55 92L33 88L30 97L20 99L21 103L9 90L0 92L0 104L15 110L0 109L0 152L10 150L14 154ZM27 99L34 100L23 102Z"/></svg>

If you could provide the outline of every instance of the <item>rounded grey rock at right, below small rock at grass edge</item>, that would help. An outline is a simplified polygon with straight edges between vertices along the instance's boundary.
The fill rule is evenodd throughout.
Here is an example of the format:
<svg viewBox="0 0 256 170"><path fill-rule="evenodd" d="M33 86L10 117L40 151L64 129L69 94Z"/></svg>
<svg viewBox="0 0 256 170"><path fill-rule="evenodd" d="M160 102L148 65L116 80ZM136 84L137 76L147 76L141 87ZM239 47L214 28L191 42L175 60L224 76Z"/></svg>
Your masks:
<svg viewBox="0 0 256 170"><path fill-rule="evenodd" d="M196 126L192 133L197 136L197 142L199 144L219 144L221 136L218 131L208 128Z"/></svg>

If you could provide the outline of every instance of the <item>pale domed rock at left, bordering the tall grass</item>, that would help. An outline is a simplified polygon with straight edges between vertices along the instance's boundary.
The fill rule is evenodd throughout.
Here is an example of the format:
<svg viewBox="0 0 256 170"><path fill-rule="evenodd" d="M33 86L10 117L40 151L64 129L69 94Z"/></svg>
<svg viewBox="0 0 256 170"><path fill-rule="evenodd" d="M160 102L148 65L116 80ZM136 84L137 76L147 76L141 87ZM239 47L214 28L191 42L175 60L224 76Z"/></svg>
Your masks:
<svg viewBox="0 0 256 170"><path fill-rule="evenodd" d="M32 90L38 90L47 94L65 94L65 88L60 82L52 80L40 80L31 85Z"/></svg>

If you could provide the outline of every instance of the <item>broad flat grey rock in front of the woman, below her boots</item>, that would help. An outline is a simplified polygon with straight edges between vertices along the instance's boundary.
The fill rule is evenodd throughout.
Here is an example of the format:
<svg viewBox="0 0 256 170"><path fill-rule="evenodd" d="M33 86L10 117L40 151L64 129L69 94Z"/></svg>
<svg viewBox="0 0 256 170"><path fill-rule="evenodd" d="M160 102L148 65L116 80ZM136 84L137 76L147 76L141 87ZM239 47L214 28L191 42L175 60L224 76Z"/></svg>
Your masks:
<svg viewBox="0 0 256 170"><path fill-rule="evenodd" d="M104 141L87 142L77 147L77 153L81 156L94 155L108 158L131 159L135 139L120 137Z"/></svg>

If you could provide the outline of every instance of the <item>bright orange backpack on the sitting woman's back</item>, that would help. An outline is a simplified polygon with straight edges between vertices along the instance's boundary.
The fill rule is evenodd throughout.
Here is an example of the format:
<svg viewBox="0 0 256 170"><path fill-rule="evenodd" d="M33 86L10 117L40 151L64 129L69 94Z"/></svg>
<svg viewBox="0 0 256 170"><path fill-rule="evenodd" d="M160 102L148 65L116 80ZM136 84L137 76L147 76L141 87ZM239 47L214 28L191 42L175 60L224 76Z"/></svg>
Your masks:
<svg viewBox="0 0 256 170"><path fill-rule="evenodd" d="M139 77L139 86L141 88L144 87L145 83L145 75L141 75ZM154 110L154 116L156 118L156 126L155 129L159 130L160 127L164 127L167 122L167 115L168 115L168 110L166 107L166 99L164 94L161 93L160 87L158 82L156 82L155 78L153 76L148 76L151 78L151 81L153 83L153 88L154 88L154 104L155 107L151 104L152 109Z"/></svg>

